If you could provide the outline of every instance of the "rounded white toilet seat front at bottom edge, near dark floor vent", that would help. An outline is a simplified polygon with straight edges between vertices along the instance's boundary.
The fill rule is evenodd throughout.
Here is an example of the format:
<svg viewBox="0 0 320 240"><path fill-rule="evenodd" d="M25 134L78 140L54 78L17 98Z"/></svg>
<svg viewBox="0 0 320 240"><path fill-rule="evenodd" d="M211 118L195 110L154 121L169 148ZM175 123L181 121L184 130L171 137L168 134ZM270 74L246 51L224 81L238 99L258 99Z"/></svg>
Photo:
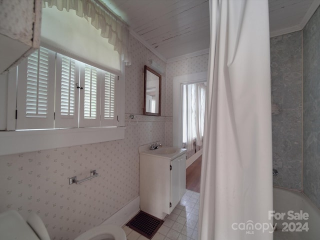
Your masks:
<svg viewBox="0 0 320 240"><path fill-rule="evenodd" d="M105 233L107 232L107 233ZM126 240L123 229L117 225L99 225L83 232L74 240Z"/></svg>

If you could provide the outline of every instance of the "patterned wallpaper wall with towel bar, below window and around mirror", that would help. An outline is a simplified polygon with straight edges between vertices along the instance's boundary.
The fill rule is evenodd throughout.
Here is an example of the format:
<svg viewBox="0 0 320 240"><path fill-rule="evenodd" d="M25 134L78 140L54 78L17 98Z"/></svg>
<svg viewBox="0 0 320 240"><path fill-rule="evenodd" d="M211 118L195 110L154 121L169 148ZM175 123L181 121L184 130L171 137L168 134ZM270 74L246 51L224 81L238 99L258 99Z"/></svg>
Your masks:
<svg viewBox="0 0 320 240"><path fill-rule="evenodd" d="M165 142L166 123L164 116L142 115L144 64L153 59L165 69L165 63L135 38L130 37L130 44L125 139L0 156L0 212L16 209L26 217L34 211L52 240L74 239L138 196L138 146ZM162 79L164 109L165 72ZM129 124L129 113L136 115L137 125L134 120ZM99 176L80 185L68 184L68 177L81 179L91 169L96 169Z"/></svg>

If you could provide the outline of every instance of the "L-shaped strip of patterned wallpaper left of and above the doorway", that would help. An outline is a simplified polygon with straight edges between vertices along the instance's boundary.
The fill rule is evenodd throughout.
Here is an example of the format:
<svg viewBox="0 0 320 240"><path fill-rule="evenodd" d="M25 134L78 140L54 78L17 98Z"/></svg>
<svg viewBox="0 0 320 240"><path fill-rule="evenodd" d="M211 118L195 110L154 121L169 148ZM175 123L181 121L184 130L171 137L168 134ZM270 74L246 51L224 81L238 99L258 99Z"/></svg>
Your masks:
<svg viewBox="0 0 320 240"><path fill-rule="evenodd" d="M195 72L207 71L208 53L199 56L189 57L186 59L167 63L166 66L166 105L165 105L165 142L172 145L172 116L173 116L173 77L191 74ZM171 132L170 132L171 131Z"/></svg>

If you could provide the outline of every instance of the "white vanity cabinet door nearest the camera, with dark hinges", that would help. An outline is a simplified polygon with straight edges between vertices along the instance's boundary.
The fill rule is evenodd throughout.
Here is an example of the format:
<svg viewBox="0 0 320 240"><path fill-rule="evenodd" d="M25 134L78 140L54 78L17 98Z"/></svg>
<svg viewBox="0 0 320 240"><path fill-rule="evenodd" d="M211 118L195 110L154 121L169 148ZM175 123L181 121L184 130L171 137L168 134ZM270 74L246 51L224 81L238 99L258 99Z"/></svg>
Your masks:
<svg viewBox="0 0 320 240"><path fill-rule="evenodd" d="M171 161L171 170L170 170L170 175L171 175L171 208L170 212L174 209L176 204L180 200L180 181L179 181L179 161L180 158L177 157Z"/></svg>

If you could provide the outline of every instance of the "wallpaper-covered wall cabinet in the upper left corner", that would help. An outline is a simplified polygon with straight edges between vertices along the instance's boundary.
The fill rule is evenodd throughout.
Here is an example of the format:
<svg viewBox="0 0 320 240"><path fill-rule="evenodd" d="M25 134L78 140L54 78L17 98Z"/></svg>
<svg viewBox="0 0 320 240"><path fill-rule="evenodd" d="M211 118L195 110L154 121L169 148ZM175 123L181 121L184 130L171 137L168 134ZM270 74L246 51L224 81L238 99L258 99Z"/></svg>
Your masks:
<svg viewBox="0 0 320 240"><path fill-rule="evenodd" d="M0 0L0 73L40 44L41 0Z"/></svg>

